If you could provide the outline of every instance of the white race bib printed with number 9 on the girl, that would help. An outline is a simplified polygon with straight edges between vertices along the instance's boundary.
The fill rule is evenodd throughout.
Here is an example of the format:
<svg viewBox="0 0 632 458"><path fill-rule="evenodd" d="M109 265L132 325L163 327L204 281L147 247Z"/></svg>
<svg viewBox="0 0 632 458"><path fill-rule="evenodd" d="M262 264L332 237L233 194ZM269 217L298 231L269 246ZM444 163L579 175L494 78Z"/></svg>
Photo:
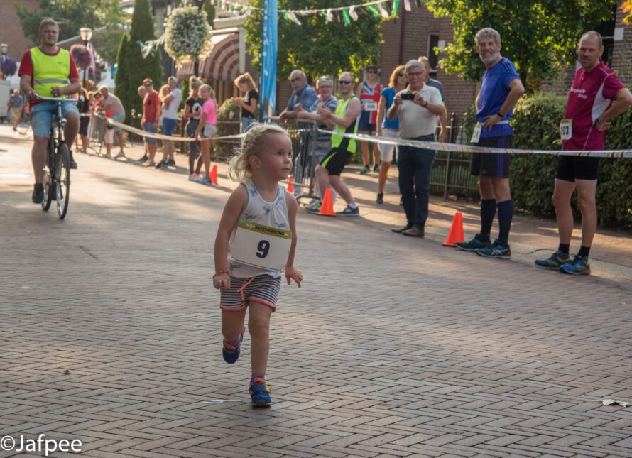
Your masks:
<svg viewBox="0 0 632 458"><path fill-rule="evenodd" d="M231 242L231 258L258 268L285 268L292 245L292 231L241 219Z"/></svg>

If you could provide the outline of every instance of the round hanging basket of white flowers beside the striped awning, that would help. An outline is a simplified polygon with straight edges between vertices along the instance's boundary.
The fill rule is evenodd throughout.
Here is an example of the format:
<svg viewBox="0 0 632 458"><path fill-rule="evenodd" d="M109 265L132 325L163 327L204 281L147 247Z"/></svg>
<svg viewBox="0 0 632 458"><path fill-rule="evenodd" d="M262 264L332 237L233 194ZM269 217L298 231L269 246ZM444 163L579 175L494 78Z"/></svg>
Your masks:
<svg viewBox="0 0 632 458"><path fill-rule="evenodd" d="M195 60L210 46L206 11L193 6L173 10L165 21L165 50L176 62Z"/></svg>

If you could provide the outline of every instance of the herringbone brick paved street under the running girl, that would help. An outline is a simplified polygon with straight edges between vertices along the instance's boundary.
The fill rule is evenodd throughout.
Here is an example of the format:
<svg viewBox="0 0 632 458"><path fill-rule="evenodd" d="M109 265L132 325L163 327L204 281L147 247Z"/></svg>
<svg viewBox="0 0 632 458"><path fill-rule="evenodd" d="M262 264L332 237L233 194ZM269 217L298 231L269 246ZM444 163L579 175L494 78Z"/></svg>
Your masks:
<svg viewBox="0 0 632 458"><path fill-rule="evenodd" d="M439 201L426 239L391 234L396 197L376 209L349 176L364 217L299 214L305 283L282 288L275 403L253 410L249 337L225 364L210 282L224 169L210 188L77 162L60 221L0 126L0 437L80 439L85 457L632 457L632 407L596 402L632 401L623 234L600 235L593 276L562 276L532 266L554 222L517 218L514 259L484 259L441 246Z"/></svg>

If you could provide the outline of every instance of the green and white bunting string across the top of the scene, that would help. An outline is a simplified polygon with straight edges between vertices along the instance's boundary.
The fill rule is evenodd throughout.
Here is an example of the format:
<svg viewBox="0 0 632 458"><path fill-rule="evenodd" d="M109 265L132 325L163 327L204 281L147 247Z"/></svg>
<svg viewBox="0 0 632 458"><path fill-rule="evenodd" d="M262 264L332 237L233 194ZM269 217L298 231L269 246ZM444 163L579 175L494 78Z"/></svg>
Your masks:
<svg viewBox="0 0 632 458"><path fill-rule="evenodd" d="M236 1L231 0L211 0L213 6L217 6L229 13L246 14L249 15L253 10L262 11L263 8L259 6L244 6ZM332 8L322 9L279 9L283 18L287 21L292 21L298 26L301 25L301 21L298 16L311 16L315 14L322 14L325 17L325 22L343 22L345 26L348 26L352 21L358 21L358 11L368 13L369 16L381 17L389 19L397 16L399 5L401 0L371 0L362 4L349 5L349 6L337 6ZM413 4L418 8L421 7L422 2L420 0L404 0L404 10L412 11Z"/></svg>

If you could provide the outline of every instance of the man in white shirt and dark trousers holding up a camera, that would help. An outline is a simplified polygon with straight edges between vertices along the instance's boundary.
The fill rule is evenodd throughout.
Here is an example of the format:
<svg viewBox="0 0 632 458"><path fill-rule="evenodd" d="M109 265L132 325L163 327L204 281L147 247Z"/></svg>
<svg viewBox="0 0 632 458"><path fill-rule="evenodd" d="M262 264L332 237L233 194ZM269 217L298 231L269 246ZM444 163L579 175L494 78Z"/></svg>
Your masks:
<svg viewBox="0 0 632 458"><path fill-rule="evenodd" d="M399 116L399 133L406 140L435 141L437 116L445 113L441 94L435 87L424 84L426 69L418 60L406 64L408 87L396 94L386 116ZM423 237L430 202L430 170L435 150L400 146L397 160L399 192L402 195L406 225L393 232L411 237ZM413 187L414 185L414 187Z"/></svg>

